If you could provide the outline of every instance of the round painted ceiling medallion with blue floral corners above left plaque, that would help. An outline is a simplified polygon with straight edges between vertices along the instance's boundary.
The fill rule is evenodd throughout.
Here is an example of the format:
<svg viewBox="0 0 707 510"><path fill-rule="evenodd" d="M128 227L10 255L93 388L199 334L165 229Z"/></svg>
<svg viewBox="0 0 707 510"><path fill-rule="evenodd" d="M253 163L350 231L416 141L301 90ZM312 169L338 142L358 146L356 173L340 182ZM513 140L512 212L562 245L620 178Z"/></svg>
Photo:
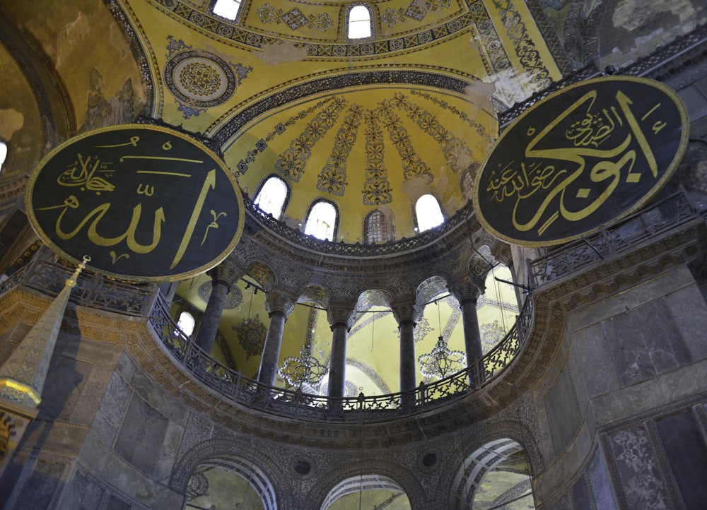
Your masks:
<svg viewBox="0 0 707 510"><path fill-rule="evenodd" d="M175 98L185 119L233 97L251 67L231 64L221 57L201 52L182 40L168 37L165 85Z"/></svg>

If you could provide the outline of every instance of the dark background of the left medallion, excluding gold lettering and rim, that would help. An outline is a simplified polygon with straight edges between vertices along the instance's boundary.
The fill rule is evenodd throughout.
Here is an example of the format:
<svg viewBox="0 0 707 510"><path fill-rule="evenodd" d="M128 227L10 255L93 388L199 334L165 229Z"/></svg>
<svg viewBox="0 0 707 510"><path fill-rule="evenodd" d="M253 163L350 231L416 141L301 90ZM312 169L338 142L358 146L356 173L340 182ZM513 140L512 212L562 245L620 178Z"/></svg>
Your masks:
<svg viewBox="0 0 707 510"><path fill-rule="evenodd" d="M136 147L98 147L126 143L133 136L140 138ZM170 150L163 149L167 142L172 146ZM84 158L91 156L99 158L101 162L110 163L107 167L115 172L96 172L95 175L115 185L114 191L101 191L96 194L94 191L81 191L79 186L57 184L59 176L72 167L79 153ZM132 158L120 162L120 158L126 155L165 156L202 162ZM182 279L206 271L223 260L243 232L243 198L235 180L226 173L225 166L222 165L208 148L183 134L160 126L127 125L100 129L71 139L47 156L30 177L28 215L42 240L68 259L78 261L83 255L89 255L90 268L119 278L156 281ZM139 174L139 170L185 173L191 177ZM206 195L185 254L177 266L170 269L189 218L197 205L197 198L206 176L211 170L216 170L214 189L209 189ZM153 195L138 194L137 189L141 185L154 186ZM146 254L130 251L125 241L112 247L97 246L88 239L87 232L91 221L84 225L75 237L61 239L55 231L55 225L62 208L41 209L60 205L71 194L78 198L80 207L66 210L62 219L64 232L74 230L95 207L110 202L110 209L97 223L96 230L101 237L118 237L126 232L134 207L141 203L141 220L136 230L136 241L141 244L151 243L155 211L162 207L165 222L162 225L159 244ZM201 246L206 227L214 220L211 210L217 214L226 213L226 216L221 215L218 218L218 227L208 229L206 242ZM117 257L120 254L129 254L129 258L120 257L113 263L110 251L115 251Z"/></svg>

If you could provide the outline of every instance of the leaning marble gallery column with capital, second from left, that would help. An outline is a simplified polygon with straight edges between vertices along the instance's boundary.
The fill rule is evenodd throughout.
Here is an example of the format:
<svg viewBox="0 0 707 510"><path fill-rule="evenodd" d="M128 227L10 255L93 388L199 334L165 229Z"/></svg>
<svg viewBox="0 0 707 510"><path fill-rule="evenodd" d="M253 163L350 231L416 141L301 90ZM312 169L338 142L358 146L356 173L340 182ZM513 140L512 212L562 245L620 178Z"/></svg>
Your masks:
<svg viewBox="0 0 707 510"><path fill-rule="evenodd" d="M258 382L267 386L275 385L277 374L277 364L280 360L280 347L282 345L282 333L285 329L285 322L288 316L295 309L296 297L282 290L270 290L265 299L265 308L270 318L265 333L265 345L260 358L260 369L258 370Z"/></svg>

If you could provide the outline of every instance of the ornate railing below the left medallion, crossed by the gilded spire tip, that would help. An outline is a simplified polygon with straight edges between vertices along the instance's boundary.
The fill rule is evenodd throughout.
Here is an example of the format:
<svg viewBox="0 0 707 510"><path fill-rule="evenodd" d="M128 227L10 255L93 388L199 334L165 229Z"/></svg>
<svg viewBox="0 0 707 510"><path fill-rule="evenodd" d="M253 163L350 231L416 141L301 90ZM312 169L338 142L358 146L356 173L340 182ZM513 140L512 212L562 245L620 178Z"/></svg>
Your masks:
<svg viewBox="0 0 707 510"><path fill-rule="evenodd" d="M78 279L71 297L84 307L93 307L108 312L131 316L147 316L157 295L158 286L136 285L109 280L102 275L90 273L90 266ZM59 261L46 247L37 250L33 260L13 273L0 284L0 294L17 285L39 290L47 295L58 295L64 281L75 268Z"/></svg>

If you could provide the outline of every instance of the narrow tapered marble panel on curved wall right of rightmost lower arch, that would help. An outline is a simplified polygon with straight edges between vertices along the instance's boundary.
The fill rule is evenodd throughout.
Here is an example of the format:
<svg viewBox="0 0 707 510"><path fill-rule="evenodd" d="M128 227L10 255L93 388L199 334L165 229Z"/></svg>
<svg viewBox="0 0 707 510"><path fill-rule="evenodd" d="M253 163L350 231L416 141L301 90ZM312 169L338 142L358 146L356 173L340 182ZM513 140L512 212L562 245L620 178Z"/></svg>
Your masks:
<svg viewBox="0 0 707 510"><path fill-rule="evenodd" d="M563 451L579 428L581 417L568 370L563 370L547 394L547 416L555 451Z"/></svg>

